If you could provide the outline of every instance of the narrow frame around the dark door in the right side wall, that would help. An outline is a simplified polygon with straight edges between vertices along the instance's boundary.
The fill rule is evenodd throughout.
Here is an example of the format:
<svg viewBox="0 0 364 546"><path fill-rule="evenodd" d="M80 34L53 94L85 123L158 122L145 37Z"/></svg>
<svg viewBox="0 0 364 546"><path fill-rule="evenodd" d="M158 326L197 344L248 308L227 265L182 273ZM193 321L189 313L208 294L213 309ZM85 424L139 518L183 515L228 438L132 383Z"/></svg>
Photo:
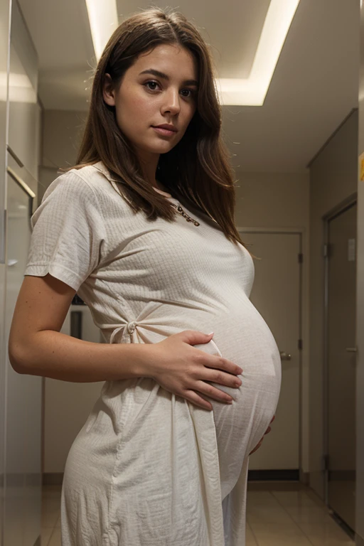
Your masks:
<svg viewBox="0 0 364 546"><path fill-rule="evenodd" d="M328 223L337 216L345 213L348 208L358 205L358 192L351 193L346 199L343 199L338 205L331 208L323 215L323 259L324 261L324 279L323 279L323 494L324 502L328 506ZM358 238L357 238L358 240Z"/></svg>

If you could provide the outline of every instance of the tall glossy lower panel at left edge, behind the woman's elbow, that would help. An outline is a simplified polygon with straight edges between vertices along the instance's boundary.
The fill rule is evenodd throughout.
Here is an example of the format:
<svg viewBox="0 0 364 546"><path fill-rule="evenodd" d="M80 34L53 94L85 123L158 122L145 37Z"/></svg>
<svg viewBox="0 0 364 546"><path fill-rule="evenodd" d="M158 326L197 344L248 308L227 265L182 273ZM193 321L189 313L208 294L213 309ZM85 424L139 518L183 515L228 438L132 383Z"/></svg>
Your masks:
<svg viewBox="0 0 364 546"><path fill-rule="evenodd" d="M16 373L8 340L31 239L31 198L8 176L7 233L7 431L4 546L33 546L41 530L42 378Z"/></svg>

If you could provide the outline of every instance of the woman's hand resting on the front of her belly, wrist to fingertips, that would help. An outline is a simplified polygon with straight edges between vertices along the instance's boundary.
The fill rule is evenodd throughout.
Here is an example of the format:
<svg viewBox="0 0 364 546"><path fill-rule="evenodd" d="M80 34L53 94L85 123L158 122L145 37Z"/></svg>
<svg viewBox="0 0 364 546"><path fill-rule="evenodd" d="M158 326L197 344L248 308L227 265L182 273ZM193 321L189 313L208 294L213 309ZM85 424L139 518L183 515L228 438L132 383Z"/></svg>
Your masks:
<svg viewBox="0 0 364 546"><path fill-rule="evenodd" d="M149 348L148 375L161 387L193 402L205 410L213 406L201 395L230 402L234 400L222 390L209 385L211 381L227 387L240 387L241 368L218 355L210 355L194 345L208 343L213 334L196 330L175 333L159 343L151 343Z"/></svg>

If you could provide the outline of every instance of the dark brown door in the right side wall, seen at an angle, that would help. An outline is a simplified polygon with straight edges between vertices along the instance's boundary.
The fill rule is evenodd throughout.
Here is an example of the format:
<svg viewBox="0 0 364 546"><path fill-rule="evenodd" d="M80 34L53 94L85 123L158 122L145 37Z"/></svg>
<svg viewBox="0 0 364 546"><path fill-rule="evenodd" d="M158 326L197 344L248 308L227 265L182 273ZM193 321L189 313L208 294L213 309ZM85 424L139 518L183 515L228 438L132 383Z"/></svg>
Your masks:
<svg viewBox="0 0 364 546"><path fill-rule="evenodd" d="M355 530L356 203L328 220L327 503Z"/></svg>

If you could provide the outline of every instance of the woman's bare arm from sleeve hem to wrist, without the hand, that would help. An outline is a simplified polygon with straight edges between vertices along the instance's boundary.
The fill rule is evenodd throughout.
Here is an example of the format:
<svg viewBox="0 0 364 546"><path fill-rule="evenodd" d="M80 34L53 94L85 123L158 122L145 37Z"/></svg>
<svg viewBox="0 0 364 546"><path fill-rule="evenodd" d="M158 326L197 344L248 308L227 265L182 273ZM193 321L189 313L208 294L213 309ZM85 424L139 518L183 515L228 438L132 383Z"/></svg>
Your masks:
<svg viewBox="0 0 364 546"><path fill-rule="evenodd" d="M50 274L24 277L9 335L14 370L72 382L147 377L147 345L92 343L60 333L74 295Z"/></svg>

